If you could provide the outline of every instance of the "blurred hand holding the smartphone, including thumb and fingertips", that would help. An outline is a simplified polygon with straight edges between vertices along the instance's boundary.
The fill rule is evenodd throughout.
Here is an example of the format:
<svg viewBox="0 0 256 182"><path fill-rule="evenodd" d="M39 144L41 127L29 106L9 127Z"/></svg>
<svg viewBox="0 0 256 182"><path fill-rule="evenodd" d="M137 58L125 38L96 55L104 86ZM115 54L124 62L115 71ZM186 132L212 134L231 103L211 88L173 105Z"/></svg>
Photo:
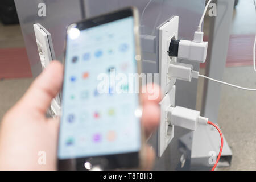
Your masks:
<svg viewBox="0 0 256 182"><path fill-rule="evenodd" d="M31 84L24 96L5 114L0 127L1 170L55 170L57 169L58 118L46 118L52 99L61 89L63 65L52 63ZM160 93L158 86L155 92ZM158 94L159 95L159 94ZM159 107L156 100L142 94L142 126L147 137L158 126ZM38 163L39 151L46 154L46 164ZM151 169L155 153L146 147L146 165Z"/></svg>

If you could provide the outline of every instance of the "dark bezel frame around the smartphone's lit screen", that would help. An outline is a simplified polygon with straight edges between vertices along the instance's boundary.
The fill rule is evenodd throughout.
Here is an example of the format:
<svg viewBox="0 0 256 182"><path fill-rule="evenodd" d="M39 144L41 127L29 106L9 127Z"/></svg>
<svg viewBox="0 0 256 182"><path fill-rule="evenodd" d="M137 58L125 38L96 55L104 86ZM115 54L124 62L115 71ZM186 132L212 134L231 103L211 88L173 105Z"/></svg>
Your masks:
<svg viewBox="0 0 256 182"><path fill-rule="evenodd" d="M65 64L66 57L66 49L67 49L67 36L68 30L70 27L76 26L79 30L85 30L87 28L99 26L101 24L113 22L115 20L123 19L133 16L134 18L134 42L135 42L135 55L137 56L137 73L141 74L141 47L139 42L139 13L135 7L127 7L122 10L113 11L112 13L102 14L95 16L93 18L84 19L79 22L71 23L67 27L66 31L66 39L64 44L64 59L63 63ZM141 82L139 84L141 90ZM61 90L62 93L62 90ZM139 105L141 105L141 96L139 97ZM141 127L142 129L142 127ZM63 169L79 169L86 170L84 167L84 163L90 161L93 165L101 165L102 169L121 169L121 168L137 168L141 166L141 153L143 150L143 130L141 130L141 150L138 152L129 152L129 153L121 153L121 154L113 154L113 155L101 155L101 156L93 156L93 157L85 157L85 158L71 158L71 159L59 159L58 158L58 168L60 170ZM58 136L59 137L59 136ZM95 163L95 164L94 164Z"/></svg>

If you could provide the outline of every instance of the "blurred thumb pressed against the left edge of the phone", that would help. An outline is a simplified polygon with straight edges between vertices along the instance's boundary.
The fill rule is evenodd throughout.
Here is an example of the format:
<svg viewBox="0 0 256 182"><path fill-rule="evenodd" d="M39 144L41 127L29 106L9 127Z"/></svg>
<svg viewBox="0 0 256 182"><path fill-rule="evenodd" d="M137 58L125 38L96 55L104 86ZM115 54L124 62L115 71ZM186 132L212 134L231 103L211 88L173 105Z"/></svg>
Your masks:
<svg viewBox="0 0 256 182"><path fill-rule="evenodd" d="M30 113L45 114L52 99L59 92L63 82L63 65L52 61L32 82L30 88L18 102L18 106Z"/></svg>

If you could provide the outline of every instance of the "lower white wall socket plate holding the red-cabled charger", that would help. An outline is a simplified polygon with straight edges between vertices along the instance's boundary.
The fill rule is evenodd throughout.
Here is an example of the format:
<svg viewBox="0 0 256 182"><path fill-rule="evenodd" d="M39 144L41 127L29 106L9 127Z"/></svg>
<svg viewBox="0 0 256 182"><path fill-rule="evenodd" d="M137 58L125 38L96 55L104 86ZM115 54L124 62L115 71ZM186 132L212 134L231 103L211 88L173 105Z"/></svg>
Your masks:
<svg viewBox="0 0 256 182"><path fill-rule="evenodd" d="M167 111L172 106L175 106L175 92L176 86L172 86L172 89L164 96L160 102L160 118L161 123L158 127L158 156L161 157L167 146L170 144L172 138L174 138L174 126L167 122Z"/></svg>

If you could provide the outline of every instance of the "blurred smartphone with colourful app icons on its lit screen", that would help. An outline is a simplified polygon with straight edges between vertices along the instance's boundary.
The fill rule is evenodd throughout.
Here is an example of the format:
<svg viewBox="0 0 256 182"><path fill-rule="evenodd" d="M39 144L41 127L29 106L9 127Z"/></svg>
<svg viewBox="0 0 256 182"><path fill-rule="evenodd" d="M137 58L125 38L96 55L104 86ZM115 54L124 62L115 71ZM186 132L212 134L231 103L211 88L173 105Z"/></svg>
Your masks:
<svg viewBox="0 0 256 182"><path fill-rule="evenodd" d="M70 24L64 67L59 169L139 167L141 101L129 88L141 84L118 82L118 75L141 73L138 11L129 7Z"/></svg>

